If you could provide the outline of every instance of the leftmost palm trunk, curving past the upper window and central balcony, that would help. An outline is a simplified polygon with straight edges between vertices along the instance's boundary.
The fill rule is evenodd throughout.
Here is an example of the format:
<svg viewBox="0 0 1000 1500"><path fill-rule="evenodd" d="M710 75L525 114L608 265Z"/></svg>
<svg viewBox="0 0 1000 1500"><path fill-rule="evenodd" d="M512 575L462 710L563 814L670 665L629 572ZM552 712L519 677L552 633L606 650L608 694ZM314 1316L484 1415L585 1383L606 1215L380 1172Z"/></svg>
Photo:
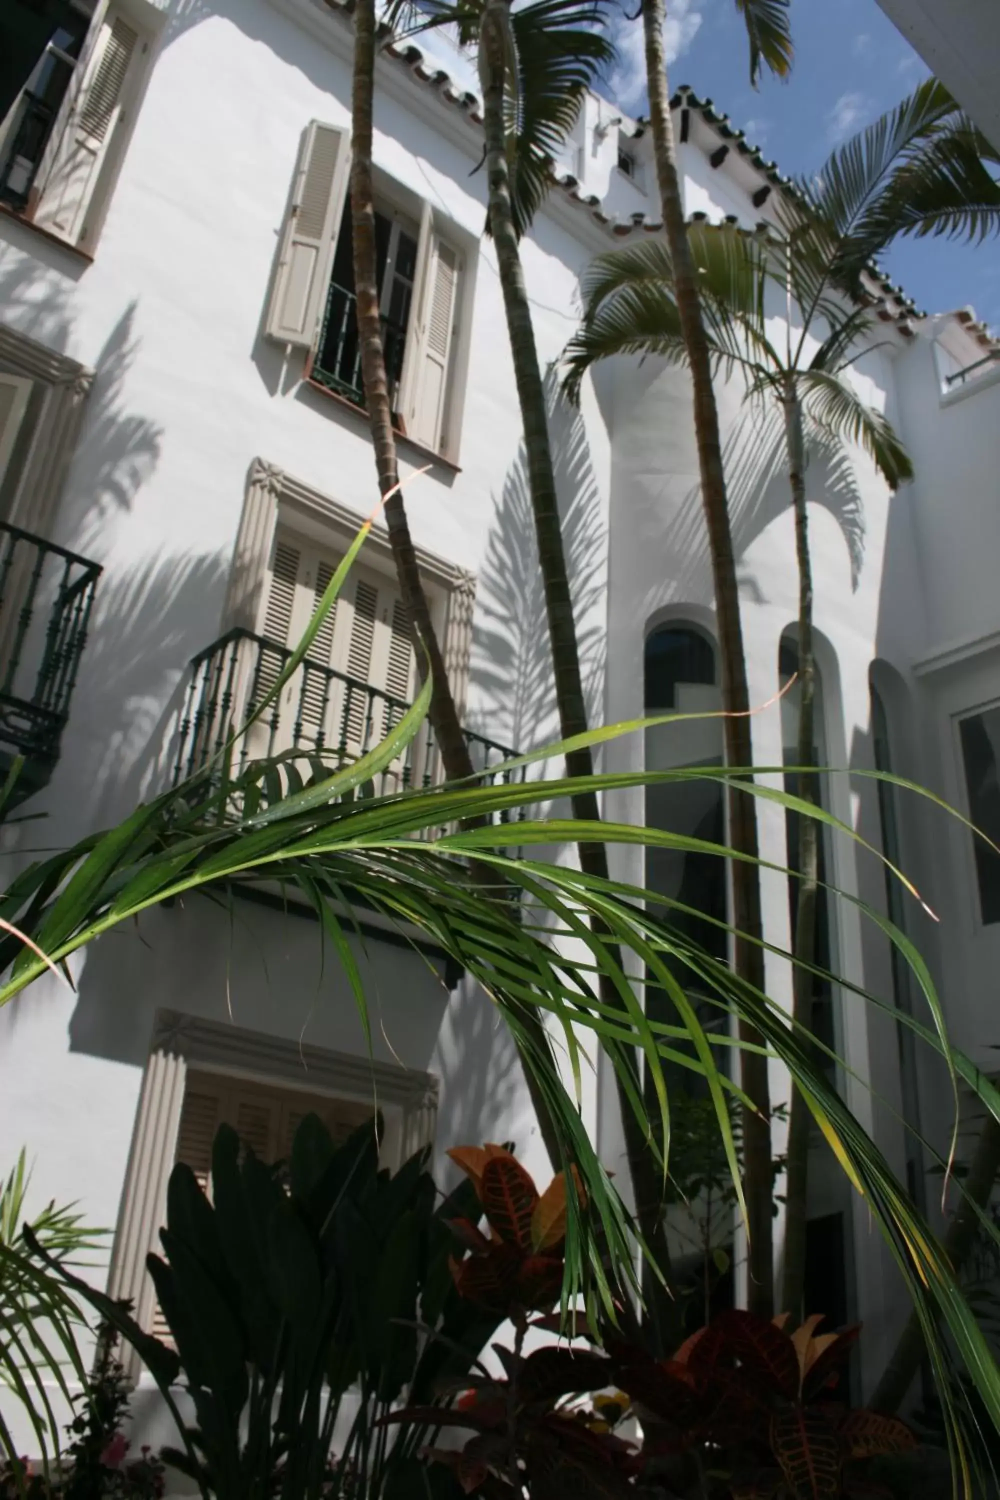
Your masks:
<svg viewBox="0 0 1000 1500"><path fill-rule="evenodd" d="M375 189L372 178L372 130L375 112L375 0L355 0L354 8L354 78L351 86L351 226L354 231L354 290L357 297L358 342L364 402L375 446L375 466L379 494L385 500L385 525L396 562L406 618L414 636L417 666L421 681L432 675L429 718L450 782L475 776L469 747L451 694L444 656L430 616L427 596L420 578L417 552L409 534L396 464L396 438L385 378L382 324L378 308L378 268L375 256ZM486 866L472 866L472 878L495 884ZM556 1064L546 1028L535 1006L525 1005L519 1016L525 1032L517 1048L525 1082L538 1119L553 1170L562 1166L559 1137L547 1100L538 1083L537 1066ZM534 1060L529 1060L528 1053Z"/></svg>

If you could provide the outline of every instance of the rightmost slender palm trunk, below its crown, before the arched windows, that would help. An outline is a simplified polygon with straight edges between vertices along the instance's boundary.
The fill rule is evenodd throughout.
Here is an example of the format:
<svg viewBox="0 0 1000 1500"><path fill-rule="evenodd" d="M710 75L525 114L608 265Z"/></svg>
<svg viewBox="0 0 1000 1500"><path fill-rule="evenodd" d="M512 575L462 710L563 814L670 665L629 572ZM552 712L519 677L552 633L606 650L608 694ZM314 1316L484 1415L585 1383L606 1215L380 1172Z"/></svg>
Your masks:
<svg viewBox="0 0 1000 1500"><path fill-rule="evenodd" d="M795 550L799 564L799 734L796 748L798 795L816 804L816 660L813 656L813 564L810 560L808 514L805 508L805 438L802 406L789 382L784 393L789 478L795 512ZM798 904L792 952L795 956L792 1018L807 1030L813 1026L813 982L808 964L816 960L816 906L819 900L819 825L799 814ZM810 1110L796 1088L789 1112L789 1146L784 1209L784 1286L781 1308L798 1323L810 1310L805 1293L805 1224L810 1170ZM822 1310L816 1310L822 1311Z"/></svg>

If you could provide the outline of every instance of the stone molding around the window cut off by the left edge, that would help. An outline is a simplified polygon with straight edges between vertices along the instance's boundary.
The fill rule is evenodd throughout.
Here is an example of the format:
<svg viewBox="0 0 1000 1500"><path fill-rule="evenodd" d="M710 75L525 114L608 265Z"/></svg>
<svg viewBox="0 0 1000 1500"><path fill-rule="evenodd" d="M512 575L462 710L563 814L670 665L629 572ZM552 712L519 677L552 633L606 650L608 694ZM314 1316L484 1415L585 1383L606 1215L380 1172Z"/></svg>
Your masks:
<svg viewBox="0 0 1000 1500"><path fill-rule="evenodd" d="M0 324L0 370L33 384L27 450L0 518L48 537L76 447L93 370Z"/></svg>

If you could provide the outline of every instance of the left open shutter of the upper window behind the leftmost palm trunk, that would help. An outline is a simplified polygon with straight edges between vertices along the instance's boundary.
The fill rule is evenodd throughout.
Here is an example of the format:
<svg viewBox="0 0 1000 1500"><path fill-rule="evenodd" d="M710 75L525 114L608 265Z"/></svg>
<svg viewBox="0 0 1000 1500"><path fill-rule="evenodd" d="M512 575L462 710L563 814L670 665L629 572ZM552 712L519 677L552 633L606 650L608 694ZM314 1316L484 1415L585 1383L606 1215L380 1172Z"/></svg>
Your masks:
<svg viewBox="0 0 1000 1500"><path fill-rule="evenodd" d="M310 348L322 318L333 250L348 190L346 130L312 120L295 168L265 332Z"/></svg>

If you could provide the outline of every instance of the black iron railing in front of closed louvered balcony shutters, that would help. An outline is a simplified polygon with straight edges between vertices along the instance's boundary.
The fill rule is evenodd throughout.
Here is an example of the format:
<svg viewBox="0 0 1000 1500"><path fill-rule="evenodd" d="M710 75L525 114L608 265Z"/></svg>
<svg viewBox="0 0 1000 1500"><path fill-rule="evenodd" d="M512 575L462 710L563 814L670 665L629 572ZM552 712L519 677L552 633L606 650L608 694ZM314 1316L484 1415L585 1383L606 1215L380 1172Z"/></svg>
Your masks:
<svg viewBox="0 0 1000 1500"><path fill-rule="evenodd" d="M375 748L409 708L402 698L306 658L259 720L223 756L234 730L264 702L289 657L288 646L249 630L231 630L193 657L174 760L175 784L213 758L219 758L220 768L225 762L228 777L237 780L252 760L288 752L295 752L295 759L306 764L313 758L316 774L325 771L328 776L333 768ZM499 770L517 752L471 729L463 734L474 768L487 780L523 780L523 768ZM441 756L430 724L424 722L415 740L370 789L375 795L391 795L441 780Z"/></svg>

